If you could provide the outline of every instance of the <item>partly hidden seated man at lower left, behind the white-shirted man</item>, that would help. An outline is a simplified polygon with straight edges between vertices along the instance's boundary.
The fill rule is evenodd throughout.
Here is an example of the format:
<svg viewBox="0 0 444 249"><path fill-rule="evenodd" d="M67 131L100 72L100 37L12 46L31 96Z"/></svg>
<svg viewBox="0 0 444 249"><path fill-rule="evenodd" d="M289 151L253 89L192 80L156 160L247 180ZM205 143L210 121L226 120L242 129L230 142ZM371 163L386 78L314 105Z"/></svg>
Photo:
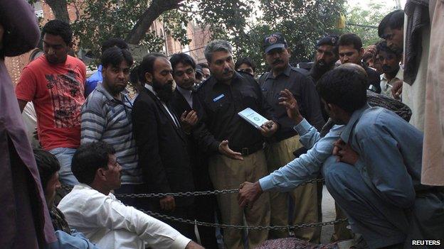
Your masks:
<svg viewBox="0 0 444 249"><path fill-rule="evenodd" d="M34 150L34 157L38 168L38 175L40 175L40 182L45 194L46 205L51 214L51 221L53 222L54 231L56 231L57 242L51 243L49 248L64 248L64 249L95 249L97 248L93 243L90 243L88 238L82 233L71 230L65 220L62 212L54 206L54 198L56 197L56 190L60 188L58 181L58 170L60 170L60 163L55 155L46 150Z"/></svg>

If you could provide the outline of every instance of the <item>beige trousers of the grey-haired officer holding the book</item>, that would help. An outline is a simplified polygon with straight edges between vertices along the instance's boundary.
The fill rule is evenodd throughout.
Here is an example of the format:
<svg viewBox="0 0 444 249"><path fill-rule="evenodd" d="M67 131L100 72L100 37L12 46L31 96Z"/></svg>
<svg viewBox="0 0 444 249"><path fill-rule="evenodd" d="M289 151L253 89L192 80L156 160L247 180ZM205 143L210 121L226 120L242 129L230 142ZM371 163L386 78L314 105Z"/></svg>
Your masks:
<svg viewBox="0 0 444 249"><path fill-rule="evenodd" d="M233 160L223 155L209 159L208 171L214 189L237 189L243 182L256 182L268 175L265 154L259 150L243 160ZM243 216L249 226L268 226L270 224L270 198L263 193L253 207L240 208L237 194L217 196L223 224L242 225ZM223 243L227 249L243 248L242 230L223 229ZM249 248L256 248L268 238L267 230L249 230Z"/></svg>

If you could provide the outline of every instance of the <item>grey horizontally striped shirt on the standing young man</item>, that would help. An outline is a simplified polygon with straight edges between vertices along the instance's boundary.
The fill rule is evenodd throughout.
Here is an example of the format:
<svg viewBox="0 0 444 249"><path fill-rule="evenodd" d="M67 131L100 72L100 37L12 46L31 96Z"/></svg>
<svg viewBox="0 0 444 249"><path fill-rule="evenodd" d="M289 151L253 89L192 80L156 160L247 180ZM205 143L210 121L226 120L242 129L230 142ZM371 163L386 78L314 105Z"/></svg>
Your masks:
<svg viewBox="0 0 444 249"><path fill-rule="evenodd" d="M117 100L102 84L88 96L82 107L80 143L104 141L114 147L122 165L122 184L141 184L142 170L137 167L137 150L132 135L132 104L121 94Z"/></svg>

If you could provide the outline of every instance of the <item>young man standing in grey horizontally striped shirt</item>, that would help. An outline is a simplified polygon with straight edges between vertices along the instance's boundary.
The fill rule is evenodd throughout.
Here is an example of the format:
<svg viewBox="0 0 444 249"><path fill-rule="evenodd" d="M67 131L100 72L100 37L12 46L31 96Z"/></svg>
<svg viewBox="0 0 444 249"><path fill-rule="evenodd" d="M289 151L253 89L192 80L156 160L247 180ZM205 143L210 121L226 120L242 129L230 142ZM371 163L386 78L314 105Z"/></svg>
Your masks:
<svg viewBox="0 0 444 249"><path fill-rule="evenodd" d="M132 55L126 49L108 48L102 54L102 84L91 92L82 108L80 143L104 141L116 150L122 165L122 187L118 194L143 192L142 170L137 167L137 150L132 135L132 104L122 94L127 87ZM122 199L129 206L139 207L139 199Z"/></svg>

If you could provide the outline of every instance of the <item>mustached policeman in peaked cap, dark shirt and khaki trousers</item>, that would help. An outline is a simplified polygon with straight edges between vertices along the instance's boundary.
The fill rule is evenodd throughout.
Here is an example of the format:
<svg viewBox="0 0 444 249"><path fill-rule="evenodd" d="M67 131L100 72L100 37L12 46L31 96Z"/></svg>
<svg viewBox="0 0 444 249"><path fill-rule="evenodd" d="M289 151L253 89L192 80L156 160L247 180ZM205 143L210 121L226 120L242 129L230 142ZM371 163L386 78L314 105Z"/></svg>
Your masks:
<svg viewBox="0 0 444 249"><path fill-rule="evenodd" d="M293 129L293 122L288 118L285 107L280 106L280 92L289 89L297 102L300 103L302 116L313 123L319 131L325 121L322 118L319 97L315 86L307 77L307 71L290 66L290 50L282 33L273 33L264 39L265 59L271 71L263 74L259 79L262 93L273 107L273 114L280 124L280 129L273 138L268 139L267 156L268 172L277 170L282 165L294 159L293 151L302 148L297 131ZM295 201L293 223L314 223L318 221L317 184L307 184L292 191ZM287 226L289 193L270 192L271 219L273 226ZM271 238L285 238L289 231L270 231ZM319 243L320 230L318 228L304 228L295 231L297 238Z"/></svg>

